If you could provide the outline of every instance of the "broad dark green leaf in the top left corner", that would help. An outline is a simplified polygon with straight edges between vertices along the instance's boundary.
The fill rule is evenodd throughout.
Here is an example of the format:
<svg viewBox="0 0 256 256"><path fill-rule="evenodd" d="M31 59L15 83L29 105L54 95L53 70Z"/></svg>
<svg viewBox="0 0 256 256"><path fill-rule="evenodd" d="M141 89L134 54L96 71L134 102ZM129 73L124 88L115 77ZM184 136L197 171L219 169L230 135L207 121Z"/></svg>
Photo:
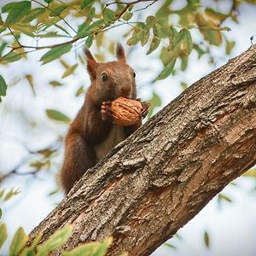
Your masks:
<svg viewBox="0 0 256 256"><path fill-rule="evenodd" d="M6 18L5 23L7 25L15 24L15 22L23 18L31 9L31 2L29 1L15 2L12 5L9 5L8 7L6 6L3 7L2 11L3 10L6 11L6 9L9 15Z"/></svg>

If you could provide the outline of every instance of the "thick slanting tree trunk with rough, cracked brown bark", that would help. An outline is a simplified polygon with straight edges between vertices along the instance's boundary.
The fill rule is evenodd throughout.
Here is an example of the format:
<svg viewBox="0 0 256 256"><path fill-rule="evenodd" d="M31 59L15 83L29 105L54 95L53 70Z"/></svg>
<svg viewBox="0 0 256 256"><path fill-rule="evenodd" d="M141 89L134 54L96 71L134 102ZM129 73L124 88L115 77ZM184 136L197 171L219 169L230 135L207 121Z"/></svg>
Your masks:
<svg viewBox="0 0 256 256"><path fill-rule="evenodd" d="M30 234L65 224L71 249L113 236L110 255L148 255L256 163L256 46L155 114L90 169Z"/></svg>

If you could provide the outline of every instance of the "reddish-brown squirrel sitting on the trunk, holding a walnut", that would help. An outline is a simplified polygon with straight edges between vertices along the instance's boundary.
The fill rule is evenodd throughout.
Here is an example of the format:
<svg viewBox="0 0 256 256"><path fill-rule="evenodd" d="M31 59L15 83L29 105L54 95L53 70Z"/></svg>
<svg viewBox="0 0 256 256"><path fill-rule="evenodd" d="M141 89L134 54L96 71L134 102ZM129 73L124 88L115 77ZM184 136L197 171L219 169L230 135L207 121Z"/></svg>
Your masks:
<svg viewBox="0 0 256 256"><path fill-rule="evenodd" d="M116 47L117 61L100 63L89 49L84 49L84 53L91 84L83 107L71 123L65 139L61 184L66 194L87 169L95 166L111 148L142 125L141 120L132 126L112 122L111 101L119 96L137 98L136 74L126 64L121 44ZM147 110L144 109L143 113Z"/></svg>

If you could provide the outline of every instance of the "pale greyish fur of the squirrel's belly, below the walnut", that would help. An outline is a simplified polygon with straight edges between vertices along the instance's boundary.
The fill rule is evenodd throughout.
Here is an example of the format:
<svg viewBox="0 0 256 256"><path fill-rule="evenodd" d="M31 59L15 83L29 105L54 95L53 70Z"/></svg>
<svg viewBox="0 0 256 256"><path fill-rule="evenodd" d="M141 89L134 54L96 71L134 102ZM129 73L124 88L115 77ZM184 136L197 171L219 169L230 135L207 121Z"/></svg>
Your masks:
<svg viewBox="0 0 256 256"><path fill-rule="evenodd" d="M125 140L124 127L113 124L107 139L100 145L94 146L98 160L101 160L118 143Z"/></svg>

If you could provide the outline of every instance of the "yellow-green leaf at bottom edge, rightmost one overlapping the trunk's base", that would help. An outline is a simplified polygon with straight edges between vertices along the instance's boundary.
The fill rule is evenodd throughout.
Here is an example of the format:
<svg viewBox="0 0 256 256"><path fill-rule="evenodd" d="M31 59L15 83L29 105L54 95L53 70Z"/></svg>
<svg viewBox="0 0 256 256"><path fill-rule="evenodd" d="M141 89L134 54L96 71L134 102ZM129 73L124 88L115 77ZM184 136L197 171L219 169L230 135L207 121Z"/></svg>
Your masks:
<svg viewBox="0 0 256 256"><path fill-rule="evenodd" d="M113 241L112 237L109 237L102 242L92 241L75 247L71 251L61 253L61 256L104 256L108 252L108 247Z"/></svg>

